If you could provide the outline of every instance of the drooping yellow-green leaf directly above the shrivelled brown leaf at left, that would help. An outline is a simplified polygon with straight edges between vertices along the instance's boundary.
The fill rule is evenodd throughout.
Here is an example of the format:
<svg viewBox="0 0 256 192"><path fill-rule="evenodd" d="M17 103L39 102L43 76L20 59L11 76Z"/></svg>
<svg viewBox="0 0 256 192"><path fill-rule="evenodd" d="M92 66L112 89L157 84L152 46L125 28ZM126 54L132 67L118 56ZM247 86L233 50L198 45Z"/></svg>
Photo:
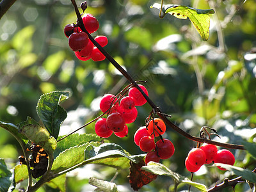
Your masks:
<svg viewBox="0 0 256 192"><path fill-rule="evenodd" d="M28 124L20 127L19 132L44 148L49 156L53 154L53 151L56 149L57 141L50 135L45 127Z"/></svg>

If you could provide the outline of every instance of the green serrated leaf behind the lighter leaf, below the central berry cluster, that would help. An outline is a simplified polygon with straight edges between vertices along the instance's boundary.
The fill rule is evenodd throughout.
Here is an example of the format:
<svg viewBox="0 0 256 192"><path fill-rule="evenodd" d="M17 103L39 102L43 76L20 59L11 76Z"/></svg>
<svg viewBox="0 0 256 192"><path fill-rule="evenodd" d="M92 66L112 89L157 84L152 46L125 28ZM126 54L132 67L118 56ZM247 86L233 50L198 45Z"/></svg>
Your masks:
<svg viewBox="0 0 256 192"><path fill-rule="evenodd" d="M58 137L58 140L60 140L61 138L63 138L63 136ZM97 134L71 134L70 136L68 136L68 138L65 138L58 142L57 148L56 150L54 150L54 157L58 156L61 152L70 147L74 147L76 145L83 145L84 143L88 143L91 141L101 142L102 138L97 136Z"/></svg>

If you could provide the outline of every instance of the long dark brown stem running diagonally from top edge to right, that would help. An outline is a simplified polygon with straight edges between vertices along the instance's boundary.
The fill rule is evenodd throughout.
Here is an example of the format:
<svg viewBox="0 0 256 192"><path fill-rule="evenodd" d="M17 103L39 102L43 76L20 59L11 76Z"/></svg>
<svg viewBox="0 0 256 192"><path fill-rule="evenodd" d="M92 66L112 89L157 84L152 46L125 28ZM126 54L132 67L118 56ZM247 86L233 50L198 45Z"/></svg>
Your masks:
<svg viewBox="0 0 256 192"><path fill-rule="evenodd" d="M152 109L155 109L158 116L164 121L165 124L167 124L169 127L171 127L174 131L178 132L182 136L185 136L189 140L197 141L197 142L200 142L200 143L209 143L209 144L218 145L220 147L225 147L225 148L236 148L236 149L241 149L241 150L244 149L243 145L235 145L235 144L230 144L230 143L220 143L220 142L217 142L217 141L206 140L206 139L198 138L198 137L195 137L195 136L191 136L190 134L188 134L188 132L183 131L177 125L170 122L170 120L168 120L168 118L166 118L166 116L163 115L161 110L159 108L157 108L156 104L154 104L154 102L152 102L152 100L146 95L145 92L143 92L143 90L141 90L140 86L138 86L136 81L134 81L134 79L132 79L132 77L124 70L124 68L122 68L116 62L116 60L112 56L110 56L110 54L108 54L108 52L102 46L100 46L98 44L98 42L96 42L94 40L92 35L90 35L90 33L88 33L88 31L84 28L83 20L82 20L81 14L80 14L80 12L77 8L76 1L71 0L71 2L72 2L73 6L75 8L75 11L76 11L78 25L82 29L82 31L84 31L88 35L88 37L92 41L92 43L99 49L100 52L102 52L102 54L104 54L104 56L106 56L106 58L110 61L110 63L112 63L112 65L114 65L114 67L117 70L119 70L119 72L132 84L132 86L136 87L141 92L143 97L145 97L145 99L147 100L148 104L151 106Z"/></svg>

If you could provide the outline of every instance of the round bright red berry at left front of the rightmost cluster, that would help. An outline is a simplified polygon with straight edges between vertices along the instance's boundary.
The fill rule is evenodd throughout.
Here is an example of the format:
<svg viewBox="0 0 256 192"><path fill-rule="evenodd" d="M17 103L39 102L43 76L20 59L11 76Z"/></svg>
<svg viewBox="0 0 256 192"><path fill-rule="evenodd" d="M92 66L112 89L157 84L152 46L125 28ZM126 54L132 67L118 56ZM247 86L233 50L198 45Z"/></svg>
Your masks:
<svg viewBox="0 0 256 192"><path fill-rule="evenodd" d="M206 156L201 148L192 148L188 153L188 161L193 166L202 166L205 164Z"/></svg>

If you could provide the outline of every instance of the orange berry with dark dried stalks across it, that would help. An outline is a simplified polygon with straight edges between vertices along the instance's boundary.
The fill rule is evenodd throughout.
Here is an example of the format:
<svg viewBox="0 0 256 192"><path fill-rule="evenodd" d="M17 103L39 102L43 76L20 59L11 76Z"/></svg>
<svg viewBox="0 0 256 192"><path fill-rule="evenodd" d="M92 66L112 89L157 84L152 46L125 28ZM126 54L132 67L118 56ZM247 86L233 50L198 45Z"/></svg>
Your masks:
<svg viewBox="0 0 256 192"><path fill-rule="evenodd" d="M150 120L147 128L148 133L152 134L154 132L156 137L159 136L159 134L164 134L166 131L166 126L161 118L154 118L154 120Z"/></svg>

